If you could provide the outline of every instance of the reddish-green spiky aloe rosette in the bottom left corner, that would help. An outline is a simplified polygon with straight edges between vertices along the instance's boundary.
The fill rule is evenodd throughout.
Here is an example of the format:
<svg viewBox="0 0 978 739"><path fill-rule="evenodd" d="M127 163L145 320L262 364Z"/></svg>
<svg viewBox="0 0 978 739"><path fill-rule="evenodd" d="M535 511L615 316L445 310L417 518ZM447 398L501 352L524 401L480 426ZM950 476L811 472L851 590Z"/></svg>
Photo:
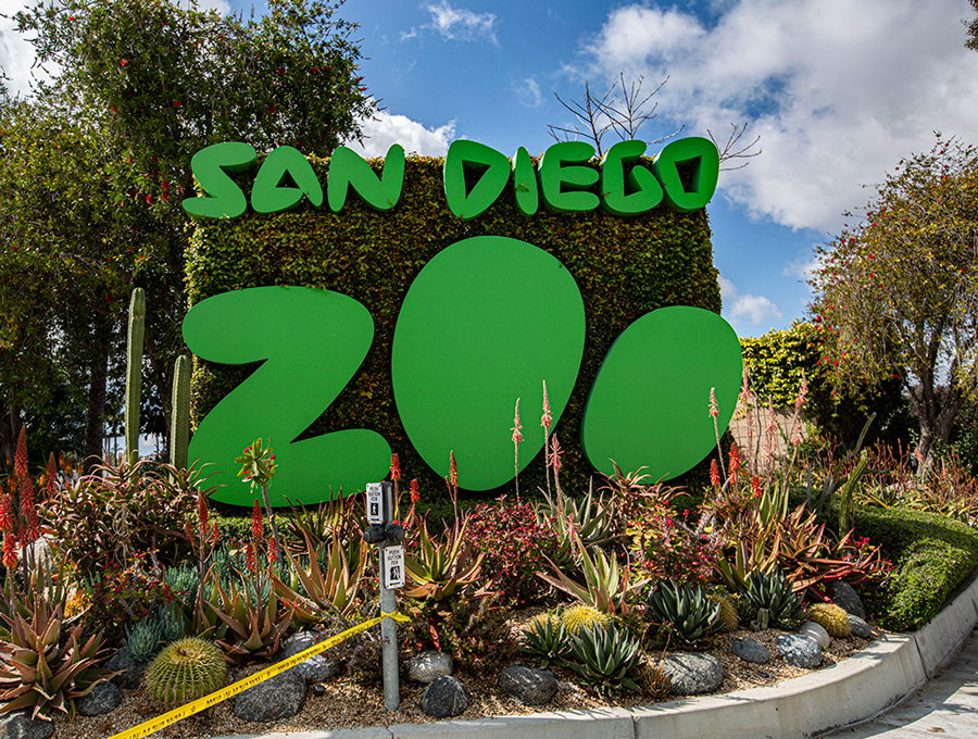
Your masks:
<svg viewBox="0 0 978 739"><path fill-rule="evenodd" d="M9 659L0 660L0 713L30 709L32 717L51 718L51 711L68 712L68 702L88 693L112 674L97 665L101 634L87 640L83 625L64 634L64 601L51 605L43 597L34 600L28 616L14 609L3 615L10 627Z"/></svg>

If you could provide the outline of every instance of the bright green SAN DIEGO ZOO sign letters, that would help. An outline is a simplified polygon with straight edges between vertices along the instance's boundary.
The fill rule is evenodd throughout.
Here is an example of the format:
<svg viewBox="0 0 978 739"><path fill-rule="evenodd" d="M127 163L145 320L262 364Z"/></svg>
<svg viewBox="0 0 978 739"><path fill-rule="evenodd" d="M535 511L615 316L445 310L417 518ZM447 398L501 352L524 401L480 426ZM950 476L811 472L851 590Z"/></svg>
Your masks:
<svg viewBox="0 0 978 739"><path fill-rule="evenodd" d="M455 141L443 171L451 212L477 217L506 187L518 211L532 215L602 208L636 215L661 202L680 211L703 208L713 196L718 158L713 142L674 141L650 166L641 141L615 145L600 166L594 150L566 141L534 164L521 148L510 160L474 141ZM377 211L397 206L404 151L394 145L378 176L352 150L340 147L325 192L298 150L280 147L262 162L251 187L255 213L275 213L303 199L339 212L352 192ZM218 143L192 160L203 197L184 201L197 218L242 215L249 200L231 178L252 168L246 143ZM502 236L463 239L439 251L418 273L400 306L391 351L393 398L418 454L443 471L449 451L466 459L464 485L488 490L514 474L509 427L517 398L540 408L546 380L554 424L577 379L585 347L585 305L569 271L552 254ZM262 326L260 343L242 330ZM362 490L383 479L391 449L379 434L346 429L296 439L356 373L374 338L368 306L339 292L306 287L258 287L216 295L184 320L184 338L198 356L222 364L263 364L200 423L190 459L214 462L223 483L215 499L250 504L229 461L256 437L272 438L278 480L273 504L315 503L333 490ZM516 358L514 360L514 358ZM434 361L432 361L434 360ZM604 473L648 467L672 478L715 446L706 414L711 388L729 423L741 374L740 343L717 314L699 308L652 311L617 338L590 390L582 419L584 450ZM526 411L525 411L526 412ZM542 434L527 434L521 468L539 453Z"/></svg>

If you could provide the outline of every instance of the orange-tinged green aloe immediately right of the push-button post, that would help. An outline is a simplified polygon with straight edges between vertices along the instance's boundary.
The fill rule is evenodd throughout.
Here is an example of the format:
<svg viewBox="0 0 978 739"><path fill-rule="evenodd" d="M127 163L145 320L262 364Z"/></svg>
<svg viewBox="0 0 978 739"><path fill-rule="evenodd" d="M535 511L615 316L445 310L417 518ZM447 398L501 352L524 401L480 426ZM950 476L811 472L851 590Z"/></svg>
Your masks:
<svg viewBox="0 0 978 739"><path fill-rule="evenodd" d="M417 549L404 555L404 566L415 585L401 592L409 598L440 601L474 586L482 568L482 555L474 555L472 543L465 541L467 528L466 518L461 526L447 529L443 540L438 541L428 534L427 521L422 521Z"/></svg>

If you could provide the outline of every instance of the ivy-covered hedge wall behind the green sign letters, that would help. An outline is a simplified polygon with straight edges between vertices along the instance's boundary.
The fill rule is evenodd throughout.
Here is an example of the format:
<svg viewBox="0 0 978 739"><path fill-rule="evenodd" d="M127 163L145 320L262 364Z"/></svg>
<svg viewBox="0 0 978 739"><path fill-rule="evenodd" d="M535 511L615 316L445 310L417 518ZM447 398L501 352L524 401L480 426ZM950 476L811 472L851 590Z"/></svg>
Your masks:
<svg viewBox="0 0 978 739"><path fill-rule="evenodd" d="M325 183L328 160L311 161L319 181ZM383 161L369 163L379 174ZM448 210L443 164L440 158L409 158L401 198L387 213L372 211L351 197L339 213L325 206L315 209L303 200L287 213L249 212L234 221L198 222L187 253L189 302L192 305L226 290L300 285L335 290L363 303L375 322L369 353L346 390L300 438L343 428L376 430L400 454L403 474L409 479L418 477L424 491L425 485L438 485L440 479L412 450L391 390L391 342L399 306L422 267L455 241L494 235L535 245L569 270L584 297L584 359L555 430L565 449L564 487L586 485L590 466L580 448L581 416L601 362L618 335L632 321L659 308L693 305L720 311L706 212L679 213L660 205L631 217L610 215L600 209L573 214L541 209L536 215L524 216L507 189L480 216L463 222ZM254 170L235 176L246 196L250 196L253 176ZM242 326L241 341L260 342L261 329ZM450 362L451 358L431 356L430 361ZM197 361L192 381L195 427L254 366ZM267 402L274 403L275 398L269 397ZM532 433L539 425L532 419L539 412L522 409L525 433ZM510 430L501 428L500 434L509 436ZM464 488L464 469L460 474ZM524 490L537 485L543 485L542 454L521 475ZM441 494L442 489L436 493Z"/></svg>

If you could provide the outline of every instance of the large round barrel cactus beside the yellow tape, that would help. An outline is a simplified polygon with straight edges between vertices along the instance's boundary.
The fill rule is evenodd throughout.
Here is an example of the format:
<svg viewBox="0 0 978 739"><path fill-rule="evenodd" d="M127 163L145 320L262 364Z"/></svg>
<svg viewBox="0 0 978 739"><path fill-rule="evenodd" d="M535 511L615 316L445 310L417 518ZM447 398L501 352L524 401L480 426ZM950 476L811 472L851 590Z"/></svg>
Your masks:
<svg viewBox="0 0 978 739"><path fill-rule="evenodd" d="M164 648L146 671L146 687L161 703L186 703L224 684L227 664L211 641L186 637Z"/></svg>

